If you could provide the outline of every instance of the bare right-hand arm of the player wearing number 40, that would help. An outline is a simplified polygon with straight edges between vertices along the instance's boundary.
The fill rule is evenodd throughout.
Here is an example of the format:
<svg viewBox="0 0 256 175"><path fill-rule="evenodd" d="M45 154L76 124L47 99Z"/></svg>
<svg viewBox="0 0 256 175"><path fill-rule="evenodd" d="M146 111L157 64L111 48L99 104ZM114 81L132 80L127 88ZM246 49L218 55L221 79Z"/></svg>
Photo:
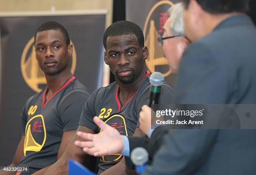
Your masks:
<svg viewBox="0 0 256 175"><path fill-rule="evenodd" d="M72 137L74 136L76 130L71 130L71 131L67 131L67 132L63 132L62 135L62 139L61 139L61 144L59 147L59 152L57 155L57 160L59 160L59 158L61 157L61 155L63 155L63 153L65 152L66 148L69 145L69 142L71 141ZM46 170L48 170L50 166L45 167L37 172L35 172L33 175L43 175L44 172L46 172Z"/></svg>

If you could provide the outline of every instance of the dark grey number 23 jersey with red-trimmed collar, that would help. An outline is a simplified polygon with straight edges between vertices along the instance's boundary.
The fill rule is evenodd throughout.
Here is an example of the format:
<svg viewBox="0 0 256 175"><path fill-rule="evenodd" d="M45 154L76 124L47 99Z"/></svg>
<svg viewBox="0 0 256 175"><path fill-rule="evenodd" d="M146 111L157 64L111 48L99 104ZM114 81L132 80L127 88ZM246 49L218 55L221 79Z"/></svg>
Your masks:
<svg viewBox="0 0 256 175"><path fill-rule="evenodd" d="M94 130L101 129L93 122L93 117L98 116L105 123L114 127L122 135L132 136L136 127L139 127L138 117L141 107L149 103L150 84L147 71L144 81L137 91L122 105L119 99L119 86L113 82L109 86L102 87L92 93L84 104L79 124ZM164 83L161 87L160 103L170 104L173 99L173 89ZM105 155L100 158L99 173L117 164L122 155Z"/></svg>

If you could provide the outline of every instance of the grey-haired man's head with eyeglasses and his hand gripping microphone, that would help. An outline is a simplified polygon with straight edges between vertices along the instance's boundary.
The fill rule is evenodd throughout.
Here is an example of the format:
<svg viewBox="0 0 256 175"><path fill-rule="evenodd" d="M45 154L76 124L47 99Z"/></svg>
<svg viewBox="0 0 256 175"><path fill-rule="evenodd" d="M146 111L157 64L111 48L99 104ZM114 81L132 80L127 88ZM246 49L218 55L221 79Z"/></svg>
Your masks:
<svg viewBox="0 0 256 175"><path fill-rule="evenodd" d="M177 74L179 61L182 58L184 50L189 45L189 40L185 37L184 23L182 19L183 10L182 3L177 3L169 8L168 13L170 17L164 24L164 34L162 37L158 38L159 45L164 49L164 55L168 61L172 74ZM142 107L139 120L140 129L144 134L150 137L154 131L154 129L151 129L150 107L147 105Z"/></svg>

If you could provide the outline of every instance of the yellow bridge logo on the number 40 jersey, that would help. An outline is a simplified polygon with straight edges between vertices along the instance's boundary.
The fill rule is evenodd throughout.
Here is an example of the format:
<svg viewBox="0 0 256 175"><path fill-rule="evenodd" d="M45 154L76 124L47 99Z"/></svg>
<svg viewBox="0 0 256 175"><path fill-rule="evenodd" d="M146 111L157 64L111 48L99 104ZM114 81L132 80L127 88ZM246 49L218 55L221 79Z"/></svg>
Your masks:
<svg viewBox="0 0 256 175"><path fill-rule="evenodd" d="M25 129L25 140L24 140L24 156L27 151L41 151L46 141L46 129L44 124L44 117L36 115L28 120ZM33 133L33 134L32 134ZM42 137L41 140L36 140L33 135L39 135Z"/></svg>

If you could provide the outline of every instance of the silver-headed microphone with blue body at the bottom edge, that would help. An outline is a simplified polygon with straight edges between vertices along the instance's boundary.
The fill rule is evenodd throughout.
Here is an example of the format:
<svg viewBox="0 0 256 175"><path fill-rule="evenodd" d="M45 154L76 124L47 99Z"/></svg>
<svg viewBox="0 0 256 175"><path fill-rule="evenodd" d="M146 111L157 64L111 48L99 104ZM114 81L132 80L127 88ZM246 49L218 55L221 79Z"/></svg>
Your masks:
<svg viewBox="0 0 256 175"><path fill-rule="evenodd" d="M136 172L141 174L148 166L148 152L143 147L136 147L131 152L131 161L136 166Z"/></svg>

